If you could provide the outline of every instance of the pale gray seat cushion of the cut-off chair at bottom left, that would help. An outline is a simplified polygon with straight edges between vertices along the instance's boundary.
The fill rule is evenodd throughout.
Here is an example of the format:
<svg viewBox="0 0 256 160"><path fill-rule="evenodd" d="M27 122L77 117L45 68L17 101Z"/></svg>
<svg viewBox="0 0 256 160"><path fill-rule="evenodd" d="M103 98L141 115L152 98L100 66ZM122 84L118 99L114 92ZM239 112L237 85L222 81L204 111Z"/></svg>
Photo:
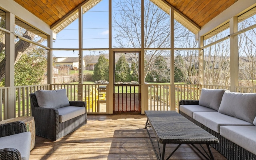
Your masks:
<svg viewBox="0 0 256 160"><path fill-rule="evenodd" d="M16 148L20 152L22 160L29 160L30 144L31 144L30 132L23 132L23 133L0 138L0 149Z"/></svg>

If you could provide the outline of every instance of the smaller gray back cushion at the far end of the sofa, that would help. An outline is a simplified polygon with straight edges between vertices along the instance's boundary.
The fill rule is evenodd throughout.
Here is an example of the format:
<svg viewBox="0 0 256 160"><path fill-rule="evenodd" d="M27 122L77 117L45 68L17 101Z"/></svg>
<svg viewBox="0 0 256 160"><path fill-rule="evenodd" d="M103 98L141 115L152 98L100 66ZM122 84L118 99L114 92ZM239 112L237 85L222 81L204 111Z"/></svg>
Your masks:
<svg viewBox="0 0 256 160"><path fill-rule="evenodd" d="M199 105L219 110L222 96L226 90L202 88Z"/></svg>

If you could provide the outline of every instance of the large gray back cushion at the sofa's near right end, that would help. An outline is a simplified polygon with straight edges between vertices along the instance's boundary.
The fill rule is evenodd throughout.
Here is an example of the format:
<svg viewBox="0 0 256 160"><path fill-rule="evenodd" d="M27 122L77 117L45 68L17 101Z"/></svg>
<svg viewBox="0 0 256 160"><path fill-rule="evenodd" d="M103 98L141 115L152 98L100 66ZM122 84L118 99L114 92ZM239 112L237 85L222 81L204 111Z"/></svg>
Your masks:
<svg viewBox="0 0 256 160"><path fill-rule="evenodd" d="M253 123L256 116L256 93L225 92L219 112Z"/></svg>

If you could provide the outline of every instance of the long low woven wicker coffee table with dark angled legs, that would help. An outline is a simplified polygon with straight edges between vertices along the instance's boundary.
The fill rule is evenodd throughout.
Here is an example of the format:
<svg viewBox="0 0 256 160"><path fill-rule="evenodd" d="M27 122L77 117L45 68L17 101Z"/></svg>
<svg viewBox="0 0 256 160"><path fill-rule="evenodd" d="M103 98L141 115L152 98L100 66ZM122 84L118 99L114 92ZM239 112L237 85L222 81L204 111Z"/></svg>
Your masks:
<svg viewBox="0 0 256 160"><path fill-rule="evenodd" d="M175 111L145 111L147 122L145 128L150 137L150 142L156 153L158 160L164 160L166 144L178 144L176 149L168 156L168 160L172 154L180 147L181 144L191 144L198 152L200 152L206 160L214 160L209 144L217 144L218 138L206 132L190 120ZM152 136L150 136L150 128L154 131L158 146L154 145ZM160 144L162 144L160 146ZM209 154L204 154L194 144L206 144ZM156 147L158 149L156 149ZM160 148L162 147L162 153Z"/></svg>

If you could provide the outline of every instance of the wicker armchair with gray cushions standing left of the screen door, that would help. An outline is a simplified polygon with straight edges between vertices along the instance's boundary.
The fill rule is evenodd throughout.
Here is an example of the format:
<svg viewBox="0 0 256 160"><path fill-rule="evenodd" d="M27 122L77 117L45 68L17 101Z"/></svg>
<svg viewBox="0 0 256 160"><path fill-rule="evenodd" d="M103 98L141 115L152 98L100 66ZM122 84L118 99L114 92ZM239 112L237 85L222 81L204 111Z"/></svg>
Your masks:
<svg viewBox="0 0 256 160"><path fill-rule="evenodd" d="M69 101L66 89L31 93L30 105L36 135L49 140L58 140L87 123L86 102Z"/></svg>

